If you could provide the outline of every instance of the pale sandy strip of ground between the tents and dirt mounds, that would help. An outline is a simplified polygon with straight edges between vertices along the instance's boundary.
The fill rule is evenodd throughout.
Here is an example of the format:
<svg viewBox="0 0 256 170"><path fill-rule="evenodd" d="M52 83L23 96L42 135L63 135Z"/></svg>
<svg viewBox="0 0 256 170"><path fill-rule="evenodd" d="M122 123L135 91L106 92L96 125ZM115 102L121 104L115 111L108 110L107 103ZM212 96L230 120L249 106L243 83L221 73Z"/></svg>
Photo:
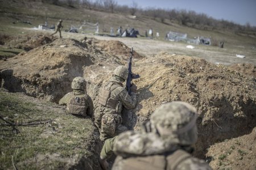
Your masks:
<svg viewBox="0 0 256 170"><path fill-rule="evenodd" d="M38 31L38 30L37 30ZM43 31L52 32L52 31ZM204 58L211 63L220 63L222 65L233 65L236 63L252 63L256 65L256 48L254 46L234 46L225 44L224 48L218 46L207 46L207 45L193 45L185 42L171 42L163 40L151 40L146 38L121 38L121 37L109 37L109 36L96 36L96 35L85 35L81 33L69 33L61 32L64 38L72 38L80 40L83 37L94 37L99 40L117 40L121 41L130 48L133 47L135 51L146 57L154 57L162 51L168 52L169 54L178 54L185 56L195 56ZM56 34L59 37L58 33ZM187 45L195 46L194 49L186 48ZM238 58L236 54L244 55L245 58Z"/></svg>

